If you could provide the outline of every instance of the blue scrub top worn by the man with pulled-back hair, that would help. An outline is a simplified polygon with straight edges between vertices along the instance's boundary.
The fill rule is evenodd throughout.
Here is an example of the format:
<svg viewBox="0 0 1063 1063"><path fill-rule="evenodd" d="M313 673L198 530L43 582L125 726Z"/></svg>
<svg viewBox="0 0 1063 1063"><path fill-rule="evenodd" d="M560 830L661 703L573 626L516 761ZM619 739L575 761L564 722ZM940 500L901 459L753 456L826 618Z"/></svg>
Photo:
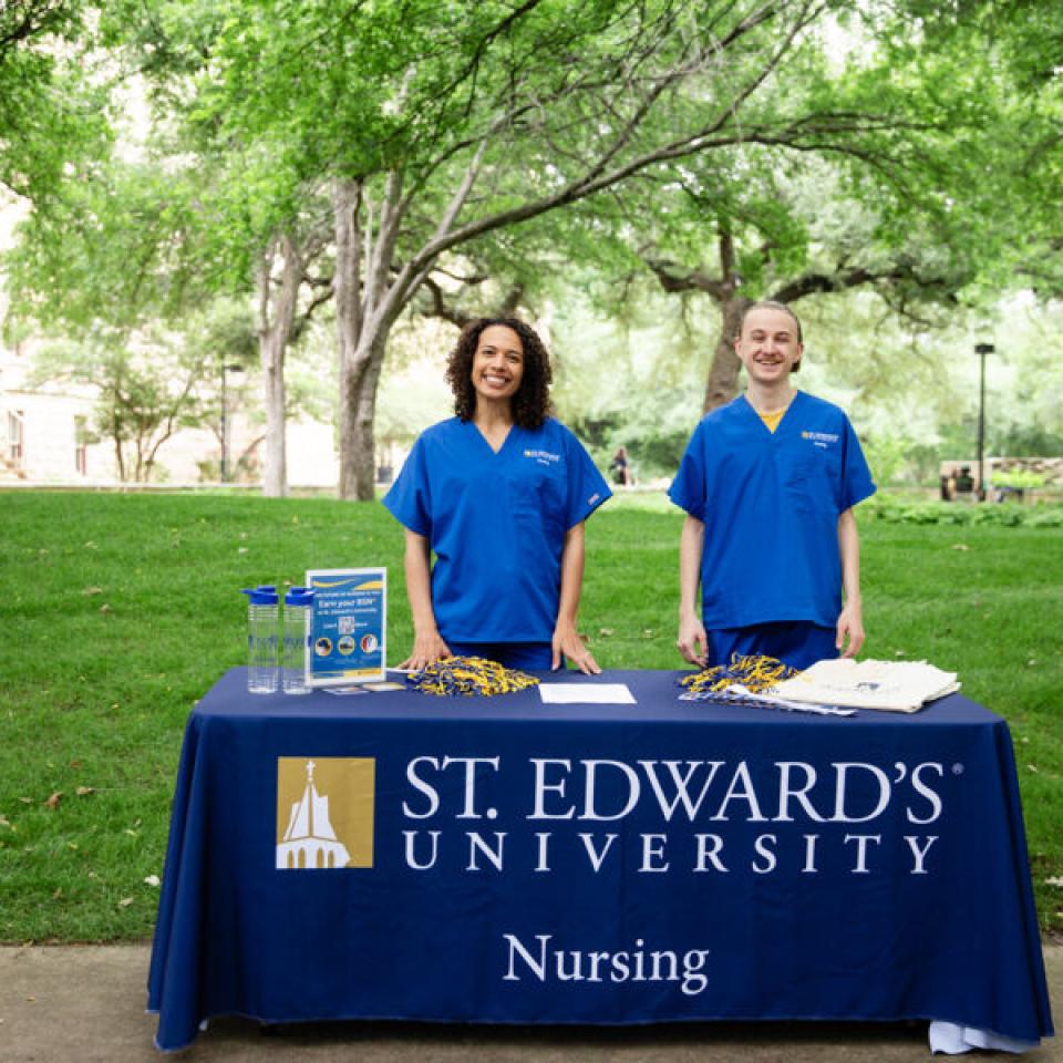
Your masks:
<svg viewBox="0 0 1063 1063"><path fill-rule="evenodd" d="M744 395L709 413L668 492L705 525L705 627L833 628L842 611L838 516L874 493L856 433L829 402L798 391L774 433Z"/></svg>

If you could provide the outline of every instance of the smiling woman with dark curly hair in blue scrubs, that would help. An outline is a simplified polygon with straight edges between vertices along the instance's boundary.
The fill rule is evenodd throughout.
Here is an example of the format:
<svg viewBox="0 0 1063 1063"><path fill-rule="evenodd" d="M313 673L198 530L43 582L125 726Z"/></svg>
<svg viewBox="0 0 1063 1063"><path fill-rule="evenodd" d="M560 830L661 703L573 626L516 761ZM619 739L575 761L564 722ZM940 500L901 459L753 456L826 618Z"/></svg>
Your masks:
<svg viewBox="0 0 1063 1063"><path fill-rule="evenodd" d="M421 434L384 505L406 529L414 643L401 668L486 657L597 673L576 630L584 522L611 492L550 415L550 359L514 318L467 326L446 380L457 414ZM431 565L432 554L435 564Z"/></svg>

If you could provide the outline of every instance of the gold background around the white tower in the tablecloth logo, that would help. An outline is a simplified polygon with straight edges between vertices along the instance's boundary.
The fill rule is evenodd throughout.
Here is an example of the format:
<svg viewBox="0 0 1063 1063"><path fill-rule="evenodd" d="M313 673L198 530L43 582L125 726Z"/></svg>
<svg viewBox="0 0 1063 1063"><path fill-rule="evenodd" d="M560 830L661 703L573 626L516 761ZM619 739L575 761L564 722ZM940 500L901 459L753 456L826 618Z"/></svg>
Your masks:
<svg viewBox="0 0 1063 1063"><path fill-rule="evenodd" d="M376 761L371 756L278 756L277 844L285 839L291 806L306 792L309 761L314 788L329 798L332 829L350 854L348 867L372 867Z"/></svg>

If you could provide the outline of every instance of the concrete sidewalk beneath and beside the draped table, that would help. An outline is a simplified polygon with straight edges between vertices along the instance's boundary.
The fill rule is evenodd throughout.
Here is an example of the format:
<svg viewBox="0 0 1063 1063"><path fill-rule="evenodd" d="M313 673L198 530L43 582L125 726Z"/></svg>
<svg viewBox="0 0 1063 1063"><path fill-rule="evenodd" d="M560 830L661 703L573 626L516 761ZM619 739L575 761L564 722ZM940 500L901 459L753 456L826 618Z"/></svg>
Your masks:
<svg viewBox="0 0 1063 1063"><path fill-rule="evenodd" d="M242 1019L215 1020L192 1047L164 1056L153 1047L155 1016L144 1011L148 953L146 945L0 947L0 1063L909 1063L930 1056L925 1023L571 1029L330 1022L266 1036ZM1063 945L1045 946L1044 959L1060 1022ZM1023 1060L1063 1063L1061 1041L1046 1041Z"/></svg>

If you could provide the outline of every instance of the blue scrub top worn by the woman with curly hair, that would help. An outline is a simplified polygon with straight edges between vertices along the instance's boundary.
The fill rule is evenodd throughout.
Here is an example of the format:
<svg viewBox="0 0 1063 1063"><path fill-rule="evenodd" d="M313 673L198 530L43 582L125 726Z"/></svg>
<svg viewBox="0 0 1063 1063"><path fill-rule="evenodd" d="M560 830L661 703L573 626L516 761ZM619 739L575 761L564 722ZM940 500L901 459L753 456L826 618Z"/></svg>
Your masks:
<svg viewBox="0 0 1063 1063"><path fill-rule="evenodd" d="M565 535L611 494L558 421L515 424L496 454L472 421L451 417L422 433L384 505L435 553L444 640L549 642Z"/></svg>

